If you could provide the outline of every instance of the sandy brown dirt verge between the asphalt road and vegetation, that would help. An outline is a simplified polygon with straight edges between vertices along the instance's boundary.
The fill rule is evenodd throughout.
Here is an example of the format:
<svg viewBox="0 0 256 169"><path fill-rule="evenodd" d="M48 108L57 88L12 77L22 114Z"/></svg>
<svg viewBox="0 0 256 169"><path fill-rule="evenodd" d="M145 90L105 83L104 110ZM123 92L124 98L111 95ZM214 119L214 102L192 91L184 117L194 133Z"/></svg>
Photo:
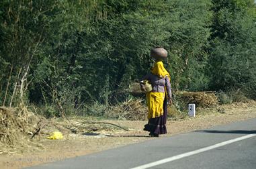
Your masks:
<svg viewBox="0 0 256 169"><path fill-rule="evenodd" d="M222 105L217 109L201 109L198 110L198 113L196 117L169 118L167 122L168 134L161 135L161 137L256 118L256 102ZM149 137L148 132L142 130L147 121L101 121L127 127L130 131L124 131L116 127L104 128L103 125L97 124L89 132L64 134L64 139L50 140L41 137L40 140L34 141L40 143L37 148L32 146L13 154L0 154L0 168L34 166L118 148L148 139L159 139ZM75 119L72 119L72 122L75 123Z"/></svg>

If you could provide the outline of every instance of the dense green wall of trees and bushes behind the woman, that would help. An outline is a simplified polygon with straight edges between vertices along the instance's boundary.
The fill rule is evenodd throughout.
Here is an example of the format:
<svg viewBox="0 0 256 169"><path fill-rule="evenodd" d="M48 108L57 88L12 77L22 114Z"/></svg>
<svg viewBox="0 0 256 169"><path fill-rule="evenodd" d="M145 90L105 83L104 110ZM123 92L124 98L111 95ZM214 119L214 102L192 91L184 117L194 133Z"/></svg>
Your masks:
<svg viewBox="0 0 256 169"><path fill-rule="evenodd" d="M155 46L169 52L165 67L173 91L232 88L256 97L253 1L38 0L0 6L1 105L28 100L67 114L81 113L85 105L108 107L118 91L150 70Z"/></svg>

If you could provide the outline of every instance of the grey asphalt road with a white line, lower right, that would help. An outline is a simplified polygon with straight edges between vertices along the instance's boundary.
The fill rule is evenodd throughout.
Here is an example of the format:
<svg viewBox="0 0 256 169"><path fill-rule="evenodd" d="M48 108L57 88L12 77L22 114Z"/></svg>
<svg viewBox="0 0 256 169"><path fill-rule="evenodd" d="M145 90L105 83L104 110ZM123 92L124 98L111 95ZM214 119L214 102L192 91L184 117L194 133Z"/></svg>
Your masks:
<svg viewBox="0 0 256 169"><path fill-rule="evenodd" d="M31 168L256 168L256 119Z"/></svg>

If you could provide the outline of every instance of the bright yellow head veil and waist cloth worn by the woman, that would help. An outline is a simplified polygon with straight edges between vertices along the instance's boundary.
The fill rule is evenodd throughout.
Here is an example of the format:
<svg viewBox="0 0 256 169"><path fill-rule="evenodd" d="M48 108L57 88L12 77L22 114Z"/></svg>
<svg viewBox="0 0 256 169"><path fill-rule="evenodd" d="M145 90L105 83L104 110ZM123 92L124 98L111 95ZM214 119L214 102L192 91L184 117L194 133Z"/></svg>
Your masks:
<svg viewBox="0 0 256 169"><path fill-rule="evenodd" d="M163 66L162 61L155 62L151 72L161 78L169 76L169 73ZM166 93L166 89L165 89ZM165 93L150 92L146 93L146 103L148 105L148 119L160 117L163 115L163 101L165 100Z"/></svg>

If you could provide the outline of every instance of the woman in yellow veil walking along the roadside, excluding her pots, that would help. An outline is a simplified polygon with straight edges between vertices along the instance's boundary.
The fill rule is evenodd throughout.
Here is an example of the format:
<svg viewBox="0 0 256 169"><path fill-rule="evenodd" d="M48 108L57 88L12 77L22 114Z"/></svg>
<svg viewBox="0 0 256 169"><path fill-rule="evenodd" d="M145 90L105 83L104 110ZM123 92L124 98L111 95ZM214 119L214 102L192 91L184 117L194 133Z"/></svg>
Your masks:
<svg viewBox="0 0 256 169"><path fill-rule="evenodd" d="M144 126L144 130L149 131L152 137L159 137L159 134L167 133L167 103L172 103L170 75L163 62L156 60L151 72L142 80L148 80L152 85L152 91L146 93L148 123ZM140 87L145 91L142 82Z"/></svg>

